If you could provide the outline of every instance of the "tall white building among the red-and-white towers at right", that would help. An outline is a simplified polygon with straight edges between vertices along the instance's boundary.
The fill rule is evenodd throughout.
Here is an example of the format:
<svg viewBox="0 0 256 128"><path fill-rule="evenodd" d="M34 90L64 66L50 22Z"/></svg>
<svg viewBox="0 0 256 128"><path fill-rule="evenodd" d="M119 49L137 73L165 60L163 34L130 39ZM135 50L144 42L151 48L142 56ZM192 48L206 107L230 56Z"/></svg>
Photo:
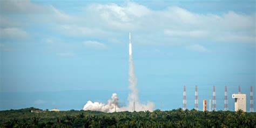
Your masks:
<svg viewBox="0 0 256 128"><path fill-rule="evenodd" d="M235 99L235 103L234 103L235 111L238 111L240 109L246 112L246 94L242 94L242 93L233 94L232 98Z"/></svg>

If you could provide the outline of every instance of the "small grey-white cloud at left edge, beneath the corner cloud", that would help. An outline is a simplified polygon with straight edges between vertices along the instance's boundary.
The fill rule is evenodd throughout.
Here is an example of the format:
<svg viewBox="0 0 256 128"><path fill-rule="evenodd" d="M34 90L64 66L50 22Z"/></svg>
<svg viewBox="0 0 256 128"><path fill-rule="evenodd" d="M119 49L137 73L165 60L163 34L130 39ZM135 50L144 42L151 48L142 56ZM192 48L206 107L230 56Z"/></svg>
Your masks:
<svg viewBox="0 0 256 128"><path fill-rule="evenodd" d="M28 33L18 28L0 28L0 37L1 38L25 38L28 37Z"/></svg>

